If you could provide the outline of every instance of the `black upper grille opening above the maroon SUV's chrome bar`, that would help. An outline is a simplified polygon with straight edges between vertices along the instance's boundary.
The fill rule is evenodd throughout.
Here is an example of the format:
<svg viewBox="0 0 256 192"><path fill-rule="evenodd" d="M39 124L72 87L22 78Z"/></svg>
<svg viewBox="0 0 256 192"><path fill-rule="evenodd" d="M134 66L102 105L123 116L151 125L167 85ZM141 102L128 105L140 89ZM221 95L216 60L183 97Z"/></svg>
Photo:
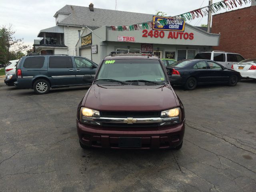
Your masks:
<svg viewBox="0 0 256 192"><path fill-rule="evenodd" d="M159 117L159 112L155 111L139 111L139 112L130 112L130 111L104 111L102 112L102 117L114 117L114 118L152 118Z"/></svg>

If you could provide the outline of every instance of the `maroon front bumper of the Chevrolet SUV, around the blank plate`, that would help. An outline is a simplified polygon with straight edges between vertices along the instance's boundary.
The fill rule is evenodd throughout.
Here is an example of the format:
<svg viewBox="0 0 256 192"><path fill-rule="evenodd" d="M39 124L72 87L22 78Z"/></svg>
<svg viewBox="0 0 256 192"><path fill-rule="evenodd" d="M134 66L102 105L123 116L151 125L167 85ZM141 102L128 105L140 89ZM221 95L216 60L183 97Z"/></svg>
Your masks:
<svg viewBox="0 0 256 192"><path fill-rule="evenodd" d="M119 137L140 137L140 149L174 148L181 144L185 130L185 120L180 124L158 127L91 126L82 124L78 120L76 125L82 144L95 148L115 149L121 148L118 145Z"/></svg>

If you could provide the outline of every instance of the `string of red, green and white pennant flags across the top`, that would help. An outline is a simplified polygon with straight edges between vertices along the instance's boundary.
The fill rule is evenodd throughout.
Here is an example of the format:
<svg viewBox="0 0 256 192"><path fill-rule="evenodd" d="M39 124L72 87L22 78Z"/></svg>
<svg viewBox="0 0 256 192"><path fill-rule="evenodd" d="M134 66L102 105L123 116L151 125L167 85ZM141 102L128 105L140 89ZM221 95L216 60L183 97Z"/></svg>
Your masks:
<svg viewBox="0 0 256 192"><path fill-rule="evenodd" d="M256 1L256 0L255 0ZM216 2L214 4L205 6L203 8L199 8L196 10L192 10L190 12L186 12L184 14L172 16L170 18L163 18L158 21L152 22L144 22L139 24L133 24L129 26L111 26L113 31L133 31L133 30L144 30L149 28L157 28L158 26L166 26L170 21L172 22L183 22L183 21L190 21L195 18L200 18L204 16L208 16L209 10L212 13L216 13L223 9L232 10L238 6L242 6L243 4L250 3L251 0L222 0L220 2Z"/></svg>

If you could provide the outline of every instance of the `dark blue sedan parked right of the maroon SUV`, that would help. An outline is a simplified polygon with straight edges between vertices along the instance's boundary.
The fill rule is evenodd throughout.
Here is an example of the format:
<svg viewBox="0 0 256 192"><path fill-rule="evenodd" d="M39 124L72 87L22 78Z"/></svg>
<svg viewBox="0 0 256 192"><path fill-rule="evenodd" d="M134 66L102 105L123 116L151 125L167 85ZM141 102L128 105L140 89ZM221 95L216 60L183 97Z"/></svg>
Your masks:
<svg viewBox="0 0 256 192"><path fill-rule="evenodd" d="M193 90L200 84L228 84L235 86L241 79L239 72L202 59L180 60L166 67L172 85Z"/></svg>

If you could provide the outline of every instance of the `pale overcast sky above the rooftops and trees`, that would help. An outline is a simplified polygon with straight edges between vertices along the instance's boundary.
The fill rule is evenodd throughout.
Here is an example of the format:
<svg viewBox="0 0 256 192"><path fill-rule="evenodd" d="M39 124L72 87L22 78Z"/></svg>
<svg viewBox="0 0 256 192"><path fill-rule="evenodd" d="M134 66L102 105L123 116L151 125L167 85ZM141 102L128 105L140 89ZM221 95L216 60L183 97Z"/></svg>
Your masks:
<svg viewBox="0 0 256 192"><path fill-rule="evenodd" d="M213 3L219 1L213 0ZM39 39L37 34L41 29L56 25L53 16L60 8L66 4L88 7L90 3L94 8L114 10L116 0L0 0L0 25L12 24L16 38L24 38L25 44L32 46L34 39ZM160 10L168 16L207 5L208 0L117 0L117 10L120 11L156 14L156 10ZM250 3L245 6L250 6ZM195 19L190 24L207 24L207 17Z"/></svg>

